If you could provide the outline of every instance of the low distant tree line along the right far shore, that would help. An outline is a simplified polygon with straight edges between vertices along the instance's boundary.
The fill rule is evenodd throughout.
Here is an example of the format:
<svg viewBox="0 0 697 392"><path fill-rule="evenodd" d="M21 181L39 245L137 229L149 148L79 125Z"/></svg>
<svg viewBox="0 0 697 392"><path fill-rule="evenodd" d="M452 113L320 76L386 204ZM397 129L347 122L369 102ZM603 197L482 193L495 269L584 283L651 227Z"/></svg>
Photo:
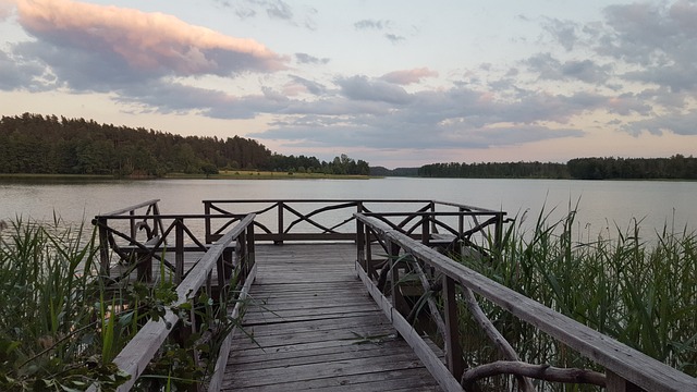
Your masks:
<svg viewBox="0 0 697 392"><path fill-rule="evenodd" d="M576 158L566 163L432 163L418 169L425 177L697 180L697 158Z"/></svg>

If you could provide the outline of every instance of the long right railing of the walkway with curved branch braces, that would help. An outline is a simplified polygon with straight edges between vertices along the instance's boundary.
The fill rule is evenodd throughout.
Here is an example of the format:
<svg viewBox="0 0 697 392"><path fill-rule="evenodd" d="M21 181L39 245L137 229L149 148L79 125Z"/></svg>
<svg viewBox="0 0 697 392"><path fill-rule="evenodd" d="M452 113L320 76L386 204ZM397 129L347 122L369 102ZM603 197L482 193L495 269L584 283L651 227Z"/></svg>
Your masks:
<svg viewBox="0 0 697 392"><path fill-rule="evenodd" d="M610 392L697 391L697 379L474 272L430 246L414 241L402 228L387 224L383 220L365 213L356 213L356 219L357 264L360 279L400 334L412 345L444 390L460 391L463 387L472 388L467 373L473 375L470 371L477 369L464 371L465 364L457 322L461 317L460 309L466 308L486 330L497 348L509 359L505 364L497 365L500 365L500 368L510 367L509 371L503 371L504 373L518 375L522 390L531 390L531 383L526 377L534 377L551 380L572 378L579 382L606 387ZM370 249L375 241L378 241L387 252L388 264L383 268L389 271L391 279L390 286L386 287L384 292L388 293L389 298L378 287L379 283L374 281L377 273L371 272L370 266L375 260ZM447 365L443 365L412 323L406 320L408 315L399 311L400 304L403 303L399 283L405 278L406 270L418 275L425 292L430 291L440 296L442 314L441 306L435 301L429 301L429 310L437 319L438 330L443 336ZM570 369L551 368L545 364L536 366L517 360L514 348L486 318L473 293L602 366L606 372L582 370L570 375L564 373L564 370Z"/></svg>

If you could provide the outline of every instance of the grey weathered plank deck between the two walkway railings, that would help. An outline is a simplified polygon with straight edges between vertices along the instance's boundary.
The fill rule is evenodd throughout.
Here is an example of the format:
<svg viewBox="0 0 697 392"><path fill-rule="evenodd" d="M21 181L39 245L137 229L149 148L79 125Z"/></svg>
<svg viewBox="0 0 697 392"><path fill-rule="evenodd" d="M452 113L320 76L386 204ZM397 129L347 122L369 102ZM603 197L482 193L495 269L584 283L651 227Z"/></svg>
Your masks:
<svg viewBox="0 0 697 392"><path fill-rule="evenodd" d="M356 277L353 244L257 245L225 391L440 391Z"/></svg>

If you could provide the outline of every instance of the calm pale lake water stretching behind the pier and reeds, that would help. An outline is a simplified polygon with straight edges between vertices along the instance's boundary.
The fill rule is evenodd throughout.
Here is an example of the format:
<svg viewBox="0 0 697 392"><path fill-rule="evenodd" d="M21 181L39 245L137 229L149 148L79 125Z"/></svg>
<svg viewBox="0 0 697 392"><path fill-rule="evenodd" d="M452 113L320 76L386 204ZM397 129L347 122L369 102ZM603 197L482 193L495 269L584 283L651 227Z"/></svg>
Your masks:
<svg viewBox="0 0 697 392"><path fill-rule="evenodd" d="M584 233L597 235L615 224L640 220L641 232L697 228L697 182L567 180L155 180L107 182L0 182L0 219L16 216L82 222L99 213L149 199L160 199L162 213L201 213L204 199L435 199L526 212L531 224L540 210L562 218L578 203L576 219Z"/></svg>

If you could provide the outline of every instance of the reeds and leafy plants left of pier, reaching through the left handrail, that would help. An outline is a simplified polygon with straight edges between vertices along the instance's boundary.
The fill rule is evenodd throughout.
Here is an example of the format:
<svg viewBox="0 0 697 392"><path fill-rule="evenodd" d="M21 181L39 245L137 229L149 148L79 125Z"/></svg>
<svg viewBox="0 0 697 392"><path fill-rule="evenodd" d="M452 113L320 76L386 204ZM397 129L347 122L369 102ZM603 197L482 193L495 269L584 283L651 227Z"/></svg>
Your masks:
<svg viewBox="0 0 697 392"><path fill-rule="evenodd" d="M109 391L125 381L113 358L176 294L164 272L155 285L106 285L97 254L94 234L65 229L58 218L53 224L17 219L0 230L1 391L83 391L93 383ZM236 326L218 314L225 308L199 296L193 310L206 340L166 342L136 390L186 390L205 380L218 340ZM173 310L186 318L192 307ZM193 357L194 346L203 357Z"/></svg>

